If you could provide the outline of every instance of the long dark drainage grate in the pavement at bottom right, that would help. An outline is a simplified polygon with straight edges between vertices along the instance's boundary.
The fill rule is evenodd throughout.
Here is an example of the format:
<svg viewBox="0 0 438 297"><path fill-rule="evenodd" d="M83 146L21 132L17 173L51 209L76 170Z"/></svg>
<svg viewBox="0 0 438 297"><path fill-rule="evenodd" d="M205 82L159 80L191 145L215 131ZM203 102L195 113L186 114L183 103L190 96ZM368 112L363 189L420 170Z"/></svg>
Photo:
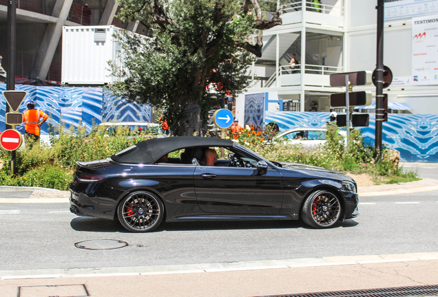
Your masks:
<svg viewBox="0 0 438 297"><path fill-rule="evenodd" d="M361 289L351 291L317 292L306 294L272 295L264 297L399 297L430 296L438 294L438 285L393 287L384 289Z"/></svg>

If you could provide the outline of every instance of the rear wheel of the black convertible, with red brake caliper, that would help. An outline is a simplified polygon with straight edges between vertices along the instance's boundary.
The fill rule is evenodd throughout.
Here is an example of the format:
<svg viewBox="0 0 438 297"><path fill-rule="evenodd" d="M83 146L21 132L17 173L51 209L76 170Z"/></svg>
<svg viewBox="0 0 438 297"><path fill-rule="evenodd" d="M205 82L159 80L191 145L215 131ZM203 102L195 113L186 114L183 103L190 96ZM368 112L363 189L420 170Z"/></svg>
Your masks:
<svg viewBox="0 0 438 297"><path fill-rule="evenodd" d="M163 203L150 192L132 192L118 204L118 220L126 230L149 232L163 220Z"/></svg>

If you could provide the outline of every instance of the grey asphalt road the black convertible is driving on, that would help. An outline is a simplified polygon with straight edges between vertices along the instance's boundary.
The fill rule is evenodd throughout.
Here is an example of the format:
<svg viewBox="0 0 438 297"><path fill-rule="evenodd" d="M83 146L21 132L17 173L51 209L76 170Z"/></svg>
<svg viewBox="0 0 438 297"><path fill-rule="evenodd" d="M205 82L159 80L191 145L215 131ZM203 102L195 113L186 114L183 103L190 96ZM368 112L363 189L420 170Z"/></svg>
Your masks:
<svg viewBox="0 0 438 297"><path fill-rule="evenodd" d="M364 197L360 215L337 228L300 221L166 223L156 232L125 232L105 219L76 217L67 203L0 203L0 270L132 267L436 252L438 191ZM75 243L116 239L116 250Z"/></svg>

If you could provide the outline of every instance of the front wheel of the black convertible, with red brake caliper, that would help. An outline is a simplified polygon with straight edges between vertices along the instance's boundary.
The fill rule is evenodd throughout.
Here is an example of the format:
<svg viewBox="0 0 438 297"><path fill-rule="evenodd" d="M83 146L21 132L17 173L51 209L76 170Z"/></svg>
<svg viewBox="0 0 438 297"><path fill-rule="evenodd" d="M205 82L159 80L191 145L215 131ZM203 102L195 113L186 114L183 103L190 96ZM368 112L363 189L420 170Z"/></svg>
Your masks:
<svg viewBox="0 0 438 297"><path fill-rule="evenodd" d="M313 228L328 228L337 221L341 215L341 203L333 192L316 190L307 197L302 208L304 223Z"/></svg>

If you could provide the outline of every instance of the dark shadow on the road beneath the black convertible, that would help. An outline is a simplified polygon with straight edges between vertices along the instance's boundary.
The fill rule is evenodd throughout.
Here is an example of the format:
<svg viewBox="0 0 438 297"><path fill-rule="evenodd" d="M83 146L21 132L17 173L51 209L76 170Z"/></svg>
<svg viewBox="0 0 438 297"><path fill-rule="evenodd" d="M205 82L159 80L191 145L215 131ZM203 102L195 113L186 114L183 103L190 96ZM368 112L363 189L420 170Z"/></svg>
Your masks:
<svg viewBox="0 0 438 297"><path fill-rule="evenodd" d="M118 221L95 217L77 217L70 222L76 231L85 232L129 232ZM353 220L345 220L334 228L350 228L358 225ZM200 230L251 230L251 229L313 229L298 221L185 221L162 223L154 232L200 231Z"/></svg>

